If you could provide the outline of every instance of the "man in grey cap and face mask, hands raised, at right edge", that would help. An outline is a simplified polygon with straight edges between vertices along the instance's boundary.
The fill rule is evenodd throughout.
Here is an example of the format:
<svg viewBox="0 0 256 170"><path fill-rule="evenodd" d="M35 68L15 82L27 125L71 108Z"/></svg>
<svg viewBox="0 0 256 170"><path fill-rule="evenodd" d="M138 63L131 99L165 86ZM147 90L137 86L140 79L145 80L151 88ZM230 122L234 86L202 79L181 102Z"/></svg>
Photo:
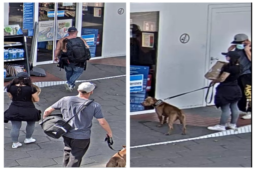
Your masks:
<svg viewBox="0 0 256 170"><path fill-rule="evenodd" d="M234 37L234 41L231 42L231 45L228 51L235 49L241 57L240 57L240 65L242 66L242 72L238 78L238 84L243 91L243 97L238 102L238 108L240 111L247 112L242 119L251 119L252 112L252 46L251 41L248 36L245 34L237 34ZM246 109L248 101L248 107Z"/></svg>

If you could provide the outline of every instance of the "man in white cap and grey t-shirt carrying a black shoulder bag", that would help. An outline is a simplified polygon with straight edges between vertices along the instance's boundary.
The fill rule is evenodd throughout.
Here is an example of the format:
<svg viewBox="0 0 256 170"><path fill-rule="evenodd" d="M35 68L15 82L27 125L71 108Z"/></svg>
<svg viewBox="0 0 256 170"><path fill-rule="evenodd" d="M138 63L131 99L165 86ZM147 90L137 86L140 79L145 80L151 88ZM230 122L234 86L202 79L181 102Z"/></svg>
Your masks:
<svg viewBox="0 0 256 170"><path fill-rule="evenodd" d="M67 96L57 101L44 111L44 118L54 110L61 110L63 119L68 120L77 113L84 102L89 100L94 88L95 86L90 82L81 83L78 86L77 96ZM89 148L93 117L106 130L107 135L112 137L111 129L102 114L100 104L92 102L69 122L71 129L63 136L65 145L63 167L79 167L81 165L82 158Z"/></svg>

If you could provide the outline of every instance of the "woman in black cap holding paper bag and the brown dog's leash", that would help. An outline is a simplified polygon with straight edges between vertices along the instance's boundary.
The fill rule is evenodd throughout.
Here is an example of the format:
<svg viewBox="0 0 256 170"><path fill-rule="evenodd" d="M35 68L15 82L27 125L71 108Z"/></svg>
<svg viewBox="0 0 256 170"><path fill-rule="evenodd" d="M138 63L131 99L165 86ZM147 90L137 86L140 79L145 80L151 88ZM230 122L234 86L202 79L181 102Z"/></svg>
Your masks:
<svg viewBox="0 0 256 170"><path fill-rule="evenodd" d="M215 105L217 108L221 108L222 114L220 124L208 127L209 130L237 129L236 123L239 117L237 103L242 98L242 91L237 81L241 70L238 60L240 55L237 51L229 51L228 53L222 53L222 55L226 56L226 60L229 63L222 68L220 78L212 82L212 84L220 82L216 88ZM230 110L231 122L227 123L230 117Z"/></svg>

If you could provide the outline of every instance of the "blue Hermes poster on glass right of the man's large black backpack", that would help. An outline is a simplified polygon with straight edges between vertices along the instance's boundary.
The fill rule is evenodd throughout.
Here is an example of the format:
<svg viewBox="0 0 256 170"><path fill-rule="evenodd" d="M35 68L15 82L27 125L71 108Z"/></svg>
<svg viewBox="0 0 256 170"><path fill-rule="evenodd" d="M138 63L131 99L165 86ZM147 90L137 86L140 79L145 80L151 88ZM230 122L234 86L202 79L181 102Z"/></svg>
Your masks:
<svg viewBox="0 0 256 170"><path fill-rule="evenodd" d="M90 46L91 57L95 57L98 29L83 28L81 35L81 38Z"/></svg>

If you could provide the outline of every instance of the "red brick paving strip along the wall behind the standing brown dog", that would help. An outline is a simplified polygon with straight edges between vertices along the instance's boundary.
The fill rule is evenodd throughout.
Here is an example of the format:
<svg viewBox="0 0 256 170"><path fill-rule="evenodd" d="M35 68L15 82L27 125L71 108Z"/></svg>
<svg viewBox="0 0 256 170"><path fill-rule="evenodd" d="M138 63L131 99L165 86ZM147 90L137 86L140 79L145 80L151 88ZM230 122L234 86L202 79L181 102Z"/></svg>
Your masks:
<svg viewBox="0 0 256 170"><path fill-rule="evenodd" d="M240 115L240 118L242 116L243 115ZM156 113L133 115L133 116L130 116L130 118L133 120L159 122L159 119L158 119L158 116L156 115ZM238 122L237 122L238 127L250 125L252 123L251 120L243 120L240 118L238 119ZM206 118L206 117L202 117L200 115L186 114L186 124L191 125L191 126L208 127L208 126L213 126L213 125L219 124L219 122L220 122L220 117ZM178 120L175 121L175 123L180 124L180 122Z"/></svg>

